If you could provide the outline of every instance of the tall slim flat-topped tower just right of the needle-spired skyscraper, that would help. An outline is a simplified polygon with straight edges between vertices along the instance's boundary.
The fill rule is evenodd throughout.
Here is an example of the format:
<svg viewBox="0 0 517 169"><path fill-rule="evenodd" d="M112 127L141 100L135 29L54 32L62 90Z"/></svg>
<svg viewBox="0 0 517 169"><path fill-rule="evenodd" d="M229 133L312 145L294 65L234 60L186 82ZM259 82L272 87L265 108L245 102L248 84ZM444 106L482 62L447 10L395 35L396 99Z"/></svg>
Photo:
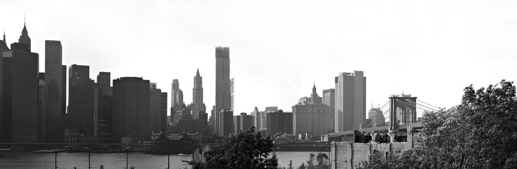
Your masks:
<svg viewBox="0 0 517 169"><path fill-rule="evenodd" d="M20 38L21 39L21 38ZM62 119L64 112L63 106L63 85L62 82L62 60L63 47L60 41L45 40L45 88L47 88L46 109L48 119L48 129L50 136L56 136L58 122ZM65 91L66 92L66 91ZM66 98L65 98L66 99ZM52 139L52 138L50 138ZM51 140L57 142L58 140Z"/></svg>

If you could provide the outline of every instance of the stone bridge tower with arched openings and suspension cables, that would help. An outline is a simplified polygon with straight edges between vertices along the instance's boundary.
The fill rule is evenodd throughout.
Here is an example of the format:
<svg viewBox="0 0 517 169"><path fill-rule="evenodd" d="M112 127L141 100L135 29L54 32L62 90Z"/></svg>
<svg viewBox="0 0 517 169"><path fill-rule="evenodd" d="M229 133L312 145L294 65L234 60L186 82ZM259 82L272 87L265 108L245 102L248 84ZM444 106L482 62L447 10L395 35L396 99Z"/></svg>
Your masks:
<svg viewBox="0 0 517 169"><path fill-rule="evenodd" d="M389 116L389 132L397 133L399 125L417 122L416 101L417 97L411 97L411 94L391 95L390 99L390 116Z"/></svg>

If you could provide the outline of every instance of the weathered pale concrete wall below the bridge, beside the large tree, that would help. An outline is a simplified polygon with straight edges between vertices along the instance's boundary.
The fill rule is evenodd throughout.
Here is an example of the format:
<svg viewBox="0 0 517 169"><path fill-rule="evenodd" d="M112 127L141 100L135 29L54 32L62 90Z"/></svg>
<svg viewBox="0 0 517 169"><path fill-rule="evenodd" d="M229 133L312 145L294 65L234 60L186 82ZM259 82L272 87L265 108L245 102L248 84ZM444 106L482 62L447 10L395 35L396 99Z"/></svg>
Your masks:
<svg viewBox="0 0 517 169"><path fill-rule="evenodd" d="M373 150L378 150L386 157L397 150L404 151L412 145L406 142L400 143L353 143L332 142L330 144L330 168L356 168L362 161L368 160Z"/></svg>

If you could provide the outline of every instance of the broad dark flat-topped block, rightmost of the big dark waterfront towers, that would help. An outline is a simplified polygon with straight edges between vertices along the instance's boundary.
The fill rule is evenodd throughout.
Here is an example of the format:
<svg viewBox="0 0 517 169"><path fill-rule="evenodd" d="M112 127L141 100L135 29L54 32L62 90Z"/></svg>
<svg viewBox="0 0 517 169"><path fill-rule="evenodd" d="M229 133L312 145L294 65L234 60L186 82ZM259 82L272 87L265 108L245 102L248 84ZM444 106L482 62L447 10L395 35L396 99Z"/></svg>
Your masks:
<svg viewBox="0 0 517 169"><path fill-rule="evenodd" d="M149 140L149 80L121 77L113 80L113 143L122 137Z"/></svg>

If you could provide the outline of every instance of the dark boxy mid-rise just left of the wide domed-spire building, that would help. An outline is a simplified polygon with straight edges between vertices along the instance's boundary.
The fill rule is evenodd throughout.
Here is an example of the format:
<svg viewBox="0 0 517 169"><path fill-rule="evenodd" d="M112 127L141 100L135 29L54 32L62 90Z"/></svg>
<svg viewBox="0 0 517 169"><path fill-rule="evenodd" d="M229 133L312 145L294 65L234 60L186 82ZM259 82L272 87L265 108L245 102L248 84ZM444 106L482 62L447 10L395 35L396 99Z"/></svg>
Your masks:
<svg viewBox="0 0 517 169"><path fill-rule="evenodd" d="M293 113L282 110L269 111L267 115L267 135L293 133Z"/></svg>

